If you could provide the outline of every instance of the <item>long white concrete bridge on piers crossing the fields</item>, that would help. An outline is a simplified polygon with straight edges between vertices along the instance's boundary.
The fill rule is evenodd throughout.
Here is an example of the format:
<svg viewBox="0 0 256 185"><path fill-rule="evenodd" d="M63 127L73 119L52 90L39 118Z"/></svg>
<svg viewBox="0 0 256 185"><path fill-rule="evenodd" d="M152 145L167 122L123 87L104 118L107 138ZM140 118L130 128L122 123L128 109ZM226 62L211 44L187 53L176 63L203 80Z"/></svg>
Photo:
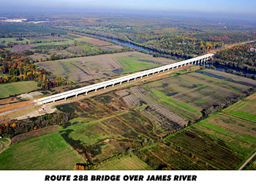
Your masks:
<svg viewBox="0 0 256 185"><path fill-rule="evenodd" d="M198 56L196 58L190 58L190 59L185 60L185 61L178 61L176 63L168 64L168 65L165 65L165 66L162 66L162 67L157 67L157 68L154 68L154 69L148 69L148 70L143 71L143 72L135 72L132 75L127 75L127 76L116 78L116 79L113 79L113 80L107 80L105 82L96 83L94 85L85 86L85 87L82 87L82 88L76 88L76 89L73 89L71 91L66 91L66 92L63 92L63 93L54 94L54 95L49 96L49 97L34 99L34 102L36 102L37 105L43 105L43 104L46 104L46 103L49 103L49 102L58 101L60 99L65 99L66 100L68 97L78 97L79 94L88 94L90 91L97 91L100 88L105 89L109 86L115 86L116 84L121 84L121 83L124 83L124 82L129 83L129 80L136 80L136 78L148 77L148 75L154 75L155 73L164 72L165 70L170 70L170 69L173 69L173 68L186 66L188 64L205 64L206 61L208 61L208 59L211 58L212 56L214 56L214 54L206 54L204 56Z"/></svg>

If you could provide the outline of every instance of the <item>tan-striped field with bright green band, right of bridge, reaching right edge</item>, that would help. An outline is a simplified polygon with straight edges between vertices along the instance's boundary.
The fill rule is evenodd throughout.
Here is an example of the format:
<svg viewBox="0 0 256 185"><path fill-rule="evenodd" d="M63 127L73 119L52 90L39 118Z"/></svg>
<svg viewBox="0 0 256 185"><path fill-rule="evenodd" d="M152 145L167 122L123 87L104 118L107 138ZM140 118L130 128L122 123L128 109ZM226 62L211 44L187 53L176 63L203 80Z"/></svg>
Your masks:
<svg viewBox="0 0 256 185"><path fill-rule="evenodd" d="M146 104L140 112L156 124L157 133L165 135L195 122L203 116L203 109L223 104L227 99L243 97L244 91L256 85L255 80L248 78L237 78L224 72L214 74L214 70L206 69L165 78L133 86L123 91L121 97L129 107Z"/></svg>

